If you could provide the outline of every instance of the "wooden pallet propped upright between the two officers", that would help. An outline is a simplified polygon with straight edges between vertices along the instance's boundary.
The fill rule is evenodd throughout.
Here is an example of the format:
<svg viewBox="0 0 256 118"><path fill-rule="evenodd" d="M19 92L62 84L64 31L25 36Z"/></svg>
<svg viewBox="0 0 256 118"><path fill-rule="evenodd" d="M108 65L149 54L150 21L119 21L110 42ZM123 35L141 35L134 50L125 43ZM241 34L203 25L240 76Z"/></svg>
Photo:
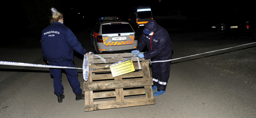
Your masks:
<svg viewBox="0 0 256 118"><path fill-rule="evenodd" d="M133 58L134 72L112 77L109 67L102 67L132 57L130 54L101 54L107 61L103 63L94 55L87 55L90 70L88 81L84 82L84 111L109 108L132 107L156 104L152 92L148 61L140 59L139 70L137 58Z"/></svg>

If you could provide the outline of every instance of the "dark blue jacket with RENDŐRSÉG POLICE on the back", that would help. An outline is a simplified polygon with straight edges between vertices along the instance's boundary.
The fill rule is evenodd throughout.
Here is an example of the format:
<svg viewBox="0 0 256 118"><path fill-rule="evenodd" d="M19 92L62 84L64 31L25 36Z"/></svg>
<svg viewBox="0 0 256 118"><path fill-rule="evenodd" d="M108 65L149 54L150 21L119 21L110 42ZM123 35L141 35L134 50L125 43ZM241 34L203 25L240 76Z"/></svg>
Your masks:
<svg viewBox="0 0 256 118"><path fill-rule="evenodd" d="M60 22L53 22L43 30L41 47L44 58L50 62L73 62L73 49L81 55L86 53L74 33Z"/></svg>

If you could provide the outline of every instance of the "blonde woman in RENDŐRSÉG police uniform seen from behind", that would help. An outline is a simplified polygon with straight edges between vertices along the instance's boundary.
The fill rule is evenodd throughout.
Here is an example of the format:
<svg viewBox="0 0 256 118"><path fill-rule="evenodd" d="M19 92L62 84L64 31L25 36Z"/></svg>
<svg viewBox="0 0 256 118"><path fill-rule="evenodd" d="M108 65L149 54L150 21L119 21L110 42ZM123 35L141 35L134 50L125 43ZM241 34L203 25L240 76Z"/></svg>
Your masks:
<svg viewBox="0 0 256 118"><path fill-rule="evenodd" d="M51 25L47 26L42 33L41 47L43 57L54 66L75 67L73 49L81 55L90 55L77 41L74 33L63 25L63 14L55 8L51 9ZM63 94L63 85L61 84L61 69L50 68L50 74L53 77L54 93L61 103L65 98ZM64 69L67 73L68 81L76 94L76 100L84 100L84 94L80 88L76 69Z"/></svg>

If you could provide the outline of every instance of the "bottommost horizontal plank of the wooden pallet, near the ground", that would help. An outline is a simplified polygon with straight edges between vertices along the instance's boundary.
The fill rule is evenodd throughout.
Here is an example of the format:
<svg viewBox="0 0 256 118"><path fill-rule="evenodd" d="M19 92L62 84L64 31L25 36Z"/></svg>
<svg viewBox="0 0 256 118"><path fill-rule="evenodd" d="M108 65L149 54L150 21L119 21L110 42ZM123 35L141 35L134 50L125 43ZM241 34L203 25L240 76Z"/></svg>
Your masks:
<svg viewBox="0 0 256 118"><path fill-rule="evenodd" d="M120 107L132 107L141 105L152 105L156 104L156 99L143 99L143 100L127 100L122 102L113 102L108 104L94 104L94 105L84 105L84 111L90 111L109 108L120 108Z"/></svg>

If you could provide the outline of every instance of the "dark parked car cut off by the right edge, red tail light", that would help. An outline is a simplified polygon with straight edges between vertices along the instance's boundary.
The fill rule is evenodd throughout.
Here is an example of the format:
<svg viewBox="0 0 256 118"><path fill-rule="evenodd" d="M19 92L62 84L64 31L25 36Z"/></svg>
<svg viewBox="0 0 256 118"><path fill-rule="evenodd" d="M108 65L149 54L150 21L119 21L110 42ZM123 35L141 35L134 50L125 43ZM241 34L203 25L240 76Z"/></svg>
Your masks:
<svg viewBox="0 0 256 118"><path fill-rule="evenodd" d="M236 37L250 37L256 40L255 15L236 15L227 22L225 35L229 39Z"/></svg>

